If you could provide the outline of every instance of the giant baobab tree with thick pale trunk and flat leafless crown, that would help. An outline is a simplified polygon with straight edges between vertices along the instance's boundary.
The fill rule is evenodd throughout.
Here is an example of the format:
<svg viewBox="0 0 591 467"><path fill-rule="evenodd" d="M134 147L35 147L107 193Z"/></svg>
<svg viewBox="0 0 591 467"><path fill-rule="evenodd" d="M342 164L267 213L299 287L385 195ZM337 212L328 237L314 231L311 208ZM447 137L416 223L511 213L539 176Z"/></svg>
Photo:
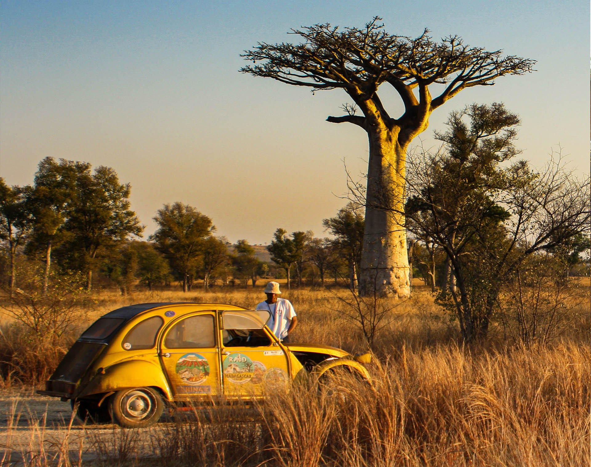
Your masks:
<svg viewBox="0 0 591 467"><path fill-rule="evenodd" d="M343 89L353 100L353 105L343 105L346 115L326 120L355 124L369 138L359 292L408 296L402 214L408 146L427 129L431 112L461 90L493 85L506 74L530 72L535 61L470 47L457 35L437 42L428 30L417 38L389 34L379 17L364 28L316 24L291 34L303 42L258 43L242 54L253 64L240 71L311 87L313 92ZM384 83L400 95L404 111L398 118L389 115L378 97L378 87ZM362 115L357 115L358 109Z"/></svg>

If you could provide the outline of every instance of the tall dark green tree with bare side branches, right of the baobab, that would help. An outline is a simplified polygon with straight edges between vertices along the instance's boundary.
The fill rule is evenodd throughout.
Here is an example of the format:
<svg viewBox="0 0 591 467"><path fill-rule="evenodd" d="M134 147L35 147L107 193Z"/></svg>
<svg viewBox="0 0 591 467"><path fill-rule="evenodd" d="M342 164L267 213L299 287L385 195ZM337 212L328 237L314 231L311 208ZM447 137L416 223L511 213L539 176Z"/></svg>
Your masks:
<svg viewBox="0 0 591 467"><path fill-rule="evenodd" d="M407 227L446 253L450 303L466 341L487 335L499 293L519 265L589 231L589 179L551 160L543 172L507 165L519 119L502 104L452 112L444 153L410 164Z"/></svg>

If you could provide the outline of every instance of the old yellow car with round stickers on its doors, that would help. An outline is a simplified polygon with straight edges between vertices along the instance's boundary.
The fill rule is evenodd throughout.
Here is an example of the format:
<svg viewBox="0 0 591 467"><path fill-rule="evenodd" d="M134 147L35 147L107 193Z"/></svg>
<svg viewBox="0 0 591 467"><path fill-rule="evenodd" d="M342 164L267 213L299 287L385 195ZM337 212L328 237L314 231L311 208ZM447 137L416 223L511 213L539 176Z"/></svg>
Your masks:
<svg viewBox="0 0 591 467"><path fill-rule="evenodd" d="M165 404L262 398L266 388L335 367L369 380L361 364L369 354L282 343L269 319L267 310L211 303L122 307L82 333L37 392L77 404L83 419L143 427L160 419Z"/></svg>

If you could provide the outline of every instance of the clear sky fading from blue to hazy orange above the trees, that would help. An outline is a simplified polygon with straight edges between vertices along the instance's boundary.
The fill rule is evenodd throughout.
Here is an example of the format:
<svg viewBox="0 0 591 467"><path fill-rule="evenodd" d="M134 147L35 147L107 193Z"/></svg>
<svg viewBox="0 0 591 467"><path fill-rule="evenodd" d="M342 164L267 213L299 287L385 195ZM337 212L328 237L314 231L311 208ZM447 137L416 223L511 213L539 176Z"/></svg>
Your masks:
<svg viewBox="0 0 591 467"><path fill-rule="evenodd" d="M345 205L343 160L364 170L365 133L329 124L347 102L238 73L257 41L293 41L290 28L362 26L461 35L538 61L535 73L464 90L438 109L504 102L522 119L523 158L543 166L560 144L589 170L589 3L586 1L7 1L0 0L0 176L33 181L46 156L115 168L132 206L151 220L181 201L230 241L269 242L276 228L312 229ZM391 114L401 109L384 93ZM418 143L419 141L416 140Z"/></svg>

